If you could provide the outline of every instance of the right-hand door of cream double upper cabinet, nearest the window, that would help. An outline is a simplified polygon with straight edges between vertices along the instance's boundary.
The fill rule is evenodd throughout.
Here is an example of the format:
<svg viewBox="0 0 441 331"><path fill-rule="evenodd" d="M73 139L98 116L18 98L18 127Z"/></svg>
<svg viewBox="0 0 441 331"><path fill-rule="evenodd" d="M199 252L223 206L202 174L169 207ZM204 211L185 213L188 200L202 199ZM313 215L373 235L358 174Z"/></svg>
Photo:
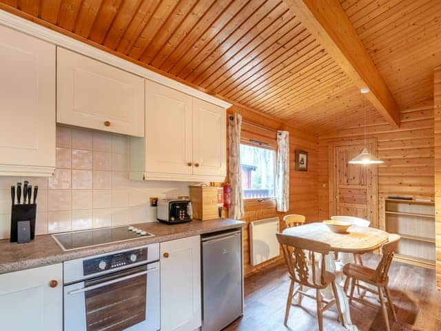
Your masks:
<svg viewBox="0 0 441 331"><path fill-rule="evenodd" d="M193 99L193 174L226 175L225 117L224 108Z"/></svg>

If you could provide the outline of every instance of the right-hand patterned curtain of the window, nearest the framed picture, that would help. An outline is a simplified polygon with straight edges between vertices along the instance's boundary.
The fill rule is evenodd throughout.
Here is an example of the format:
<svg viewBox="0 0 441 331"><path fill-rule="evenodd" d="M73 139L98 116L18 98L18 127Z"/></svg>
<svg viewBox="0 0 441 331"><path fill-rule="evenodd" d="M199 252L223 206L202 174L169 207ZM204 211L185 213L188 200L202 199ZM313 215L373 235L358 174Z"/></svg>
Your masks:
<svg viewBox="0 0 441 331"><path fill-rule="evenodd" d="M278 212L289 210L289 132L277 132L276 201Z"/></svg>

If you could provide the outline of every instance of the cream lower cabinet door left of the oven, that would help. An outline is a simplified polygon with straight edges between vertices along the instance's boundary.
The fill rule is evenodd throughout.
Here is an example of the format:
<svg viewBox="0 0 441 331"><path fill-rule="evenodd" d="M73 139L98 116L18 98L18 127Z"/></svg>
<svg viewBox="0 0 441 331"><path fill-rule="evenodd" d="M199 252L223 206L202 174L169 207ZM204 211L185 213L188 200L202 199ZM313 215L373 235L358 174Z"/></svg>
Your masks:
<svg viewBox="0 0 441 331"><path fill-rule="evenodd" d="M63 265L0 274L0 323L1 330L62 331Z"/></svg>

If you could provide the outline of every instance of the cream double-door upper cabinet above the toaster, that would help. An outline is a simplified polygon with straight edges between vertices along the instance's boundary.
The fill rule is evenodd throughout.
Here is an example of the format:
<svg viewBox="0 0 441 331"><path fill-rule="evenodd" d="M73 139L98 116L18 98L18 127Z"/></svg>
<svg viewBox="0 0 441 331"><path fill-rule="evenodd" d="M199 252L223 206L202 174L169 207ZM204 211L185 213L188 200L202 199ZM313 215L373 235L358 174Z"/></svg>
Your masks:
<svg viewBox="0 0 441 331"><path fill-rule="evenodd" d="M145 139L131 139L130 177L223 181L225 108L145 81Z"/></svg>

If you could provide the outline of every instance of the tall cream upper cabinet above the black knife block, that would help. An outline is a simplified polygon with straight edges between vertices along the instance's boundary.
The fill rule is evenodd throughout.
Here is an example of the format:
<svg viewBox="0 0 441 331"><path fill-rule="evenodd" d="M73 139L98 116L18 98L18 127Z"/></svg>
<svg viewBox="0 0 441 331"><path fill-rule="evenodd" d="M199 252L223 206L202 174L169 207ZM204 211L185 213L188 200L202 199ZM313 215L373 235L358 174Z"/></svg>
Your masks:
<svg viewBox="0 0 441 331"><path fill-rule="evenodd" d="M52 176L55 46L0 26L0 175Z"/></svg>

